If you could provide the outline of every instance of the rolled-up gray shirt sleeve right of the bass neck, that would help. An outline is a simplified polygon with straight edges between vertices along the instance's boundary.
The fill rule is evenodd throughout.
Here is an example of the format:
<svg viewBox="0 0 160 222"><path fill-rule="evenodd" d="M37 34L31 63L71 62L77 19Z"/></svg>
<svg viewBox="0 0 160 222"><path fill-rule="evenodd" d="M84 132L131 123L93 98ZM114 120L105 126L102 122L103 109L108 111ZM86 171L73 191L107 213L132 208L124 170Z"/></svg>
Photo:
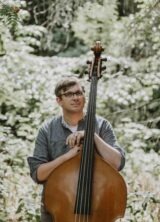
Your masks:
<svg viewBox="0 0 160 222"><path fill-rule="evenodd" d="M117 149L120 152L121 164L118 170L119 171L122 170L125 165L125 152L124 149L120 147L120 145L118 144L113 128L107 120L103 121L99 135L106 143L108 143L110 146L112 146L113 148Z"/></svg>

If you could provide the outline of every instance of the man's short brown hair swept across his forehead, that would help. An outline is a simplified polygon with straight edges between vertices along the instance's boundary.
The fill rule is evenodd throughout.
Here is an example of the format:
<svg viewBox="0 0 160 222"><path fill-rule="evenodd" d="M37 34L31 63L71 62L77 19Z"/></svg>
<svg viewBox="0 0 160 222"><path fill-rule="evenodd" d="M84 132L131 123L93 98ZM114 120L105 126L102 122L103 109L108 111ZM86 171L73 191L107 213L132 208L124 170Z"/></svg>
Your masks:
<svg viewBox="0 0 160 222"><path fill-rule="evenodd" d="M54 93L57 97L59 97L61 90L63 90L63 92L65 92L66 90L68 90L68 88L70 88L71 86L77 85L77 84L80 85L82 87L83 92L85 92L84 86L82 85L82 83L80 82L80 80L78 78L68 77L68 78L60 80L56 84Z"/></svg>

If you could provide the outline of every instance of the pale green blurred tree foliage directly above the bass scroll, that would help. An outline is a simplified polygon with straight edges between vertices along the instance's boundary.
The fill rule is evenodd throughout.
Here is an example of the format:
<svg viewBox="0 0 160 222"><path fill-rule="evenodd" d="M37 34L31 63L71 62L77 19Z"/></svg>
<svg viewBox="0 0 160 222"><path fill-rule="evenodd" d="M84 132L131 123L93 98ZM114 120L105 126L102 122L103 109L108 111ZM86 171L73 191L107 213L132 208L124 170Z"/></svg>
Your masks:
<svg viewBox="0 0 160 222"><path fill-rule="evenodd" d="M109 46L111 30L116 19L116 1L104 0L103 5L87 2L83 7L79 7L72 28L75 36L88 45L99 40Z"/></svg>

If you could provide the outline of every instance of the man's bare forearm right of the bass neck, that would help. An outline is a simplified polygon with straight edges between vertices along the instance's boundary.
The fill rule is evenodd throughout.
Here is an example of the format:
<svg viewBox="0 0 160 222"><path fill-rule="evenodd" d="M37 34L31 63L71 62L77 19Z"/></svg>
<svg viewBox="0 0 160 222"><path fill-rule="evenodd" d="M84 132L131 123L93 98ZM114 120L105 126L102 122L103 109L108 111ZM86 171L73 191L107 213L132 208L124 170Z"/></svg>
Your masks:
<svg viewBox="0 0 160 222"><path fill-rule="evenodd" d="M102 158L116 170L121 164L121 154L118 150L104 142L96 133L94 135L96 148Z"/></svg>

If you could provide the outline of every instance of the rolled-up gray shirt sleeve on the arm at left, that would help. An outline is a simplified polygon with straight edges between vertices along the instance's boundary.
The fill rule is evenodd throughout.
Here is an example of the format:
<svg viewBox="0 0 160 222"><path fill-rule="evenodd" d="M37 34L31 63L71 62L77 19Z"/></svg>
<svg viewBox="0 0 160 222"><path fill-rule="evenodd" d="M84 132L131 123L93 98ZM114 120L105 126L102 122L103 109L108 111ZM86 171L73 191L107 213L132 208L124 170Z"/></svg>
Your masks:
<svg viewBox="0 0 160 222"><path fill-rule="evenodd" d="M33 156L28 157L27 161L32 179L36 183L43 183L37 178L37 169L41 164L49 162L47 126L44 125L40 128L35 141Z"/></svg>

